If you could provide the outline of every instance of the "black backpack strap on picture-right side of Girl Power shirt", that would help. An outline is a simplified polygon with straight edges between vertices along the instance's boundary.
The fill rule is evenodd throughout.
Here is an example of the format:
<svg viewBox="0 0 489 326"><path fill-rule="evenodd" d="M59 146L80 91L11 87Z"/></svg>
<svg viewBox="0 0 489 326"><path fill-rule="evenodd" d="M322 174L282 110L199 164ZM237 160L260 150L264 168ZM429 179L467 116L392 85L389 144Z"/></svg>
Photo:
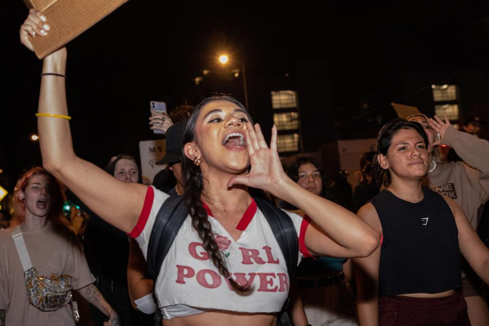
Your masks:
<svg viewBox="0 0 489 326"><path fill-rule="evenodd" d="M274 232L282 254L285 257L285 262L287 263L289 280L292 280L299 258L299 242L294 223L286 212L271 205L267 201L255 198L255 202L263 215L265 215L266 221Z"/></svg>

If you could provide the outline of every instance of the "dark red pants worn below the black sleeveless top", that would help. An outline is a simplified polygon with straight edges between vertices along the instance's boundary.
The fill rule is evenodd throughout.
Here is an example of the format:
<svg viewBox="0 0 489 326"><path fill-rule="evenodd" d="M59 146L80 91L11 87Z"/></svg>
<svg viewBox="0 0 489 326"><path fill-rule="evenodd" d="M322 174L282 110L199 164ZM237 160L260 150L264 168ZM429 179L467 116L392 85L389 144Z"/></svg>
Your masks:
<svg viewBox="0 0 489 326"><path fill-rule="evenodd" d="M464 297L417 298L401 295L378 298L379 326L470 326Z"/></svg>

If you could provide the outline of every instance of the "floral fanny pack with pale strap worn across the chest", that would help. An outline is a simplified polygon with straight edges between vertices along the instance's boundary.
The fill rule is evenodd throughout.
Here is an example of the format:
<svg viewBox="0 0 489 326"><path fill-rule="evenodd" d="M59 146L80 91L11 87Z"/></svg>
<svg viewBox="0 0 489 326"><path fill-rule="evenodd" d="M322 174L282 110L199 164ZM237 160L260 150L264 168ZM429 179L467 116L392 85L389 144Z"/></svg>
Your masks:
<svg viewBox="0 0 489 326"><path fill-rule="evenodd" d="M24 238L20 227L17 226L12 231L20 262L24 270L25 290L29 303L42 311L55 311L70 303L72 300L71 285L72 277L69 275L51 276L47 278L39 275L36 268L32 266L31 257L25 247ZM73 302L73 317L77 321L78 309L76 302Z"/></svg>

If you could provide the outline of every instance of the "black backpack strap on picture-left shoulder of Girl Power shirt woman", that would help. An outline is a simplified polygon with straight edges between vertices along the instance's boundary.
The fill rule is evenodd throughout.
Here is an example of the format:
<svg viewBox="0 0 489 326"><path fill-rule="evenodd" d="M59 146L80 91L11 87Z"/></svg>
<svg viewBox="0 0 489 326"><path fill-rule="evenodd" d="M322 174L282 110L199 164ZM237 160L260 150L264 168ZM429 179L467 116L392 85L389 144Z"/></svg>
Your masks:
<svg viewBox="0 0 489 326"><path fill-rule="evenodd" d="M169 197L160 207L149 237L146 261L156 281L161 264L168 254L173 240L188 215L183 196Z"/></svg>

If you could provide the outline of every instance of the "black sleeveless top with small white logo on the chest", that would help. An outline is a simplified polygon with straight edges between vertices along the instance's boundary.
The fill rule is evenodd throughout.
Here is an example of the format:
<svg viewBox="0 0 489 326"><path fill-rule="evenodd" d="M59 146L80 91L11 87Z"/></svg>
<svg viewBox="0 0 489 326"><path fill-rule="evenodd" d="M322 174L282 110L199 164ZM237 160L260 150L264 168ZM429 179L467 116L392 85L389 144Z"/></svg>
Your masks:
<svg viewBox="0 0 489 326"><path fill-rule="evenodd" d="M423 187L418 203L384 190L369 202L384 234L378 295L439 293L461 286L458 230L443 197Z"/></svg>

